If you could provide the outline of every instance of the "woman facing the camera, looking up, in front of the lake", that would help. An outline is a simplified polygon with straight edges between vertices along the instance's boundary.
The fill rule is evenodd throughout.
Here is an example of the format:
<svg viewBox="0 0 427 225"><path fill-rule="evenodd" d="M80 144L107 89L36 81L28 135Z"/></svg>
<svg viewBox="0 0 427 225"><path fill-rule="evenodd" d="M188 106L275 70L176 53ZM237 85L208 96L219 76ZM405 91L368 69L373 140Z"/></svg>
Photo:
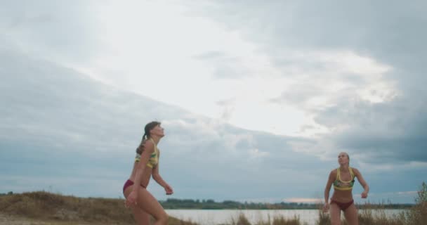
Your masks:
<svg viewBox="0 0 427 225"><path fill-rule="evenodd" d="M347 153L339 153L338 155L339 168L334 169L329 174L329 178L324 188L324 212L329 210L331 216L331 225L341 224L341 211L344 212L344 217L349 225L358 225L357 209L353 200L353 185L355 184L355 177L362 185L364 191L362 198L367 198L369 186L364 181L362 174L358 169L350 167L350 158ZM331 186L334 185L334 193L331 197L331 203L328 203L329 191Z"/></svg>

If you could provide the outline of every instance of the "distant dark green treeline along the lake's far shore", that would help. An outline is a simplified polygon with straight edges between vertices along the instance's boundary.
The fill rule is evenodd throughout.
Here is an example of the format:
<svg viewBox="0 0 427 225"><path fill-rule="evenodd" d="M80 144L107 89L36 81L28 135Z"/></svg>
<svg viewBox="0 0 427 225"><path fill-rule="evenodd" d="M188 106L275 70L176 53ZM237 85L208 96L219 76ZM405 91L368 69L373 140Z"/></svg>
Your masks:
<svg viewBox="0 0 427 225"><path fill-rule="evenodd" d="M192 209L192 210L317 210L319 204L313 203L240 203L231 200L225 200L217 203L214 200L192 200L168 198L165 201L159 201L165 209ZM358 205L357 207L378 207L381 209L405 209L412 207L413 204L369 204Z"/></svg>

